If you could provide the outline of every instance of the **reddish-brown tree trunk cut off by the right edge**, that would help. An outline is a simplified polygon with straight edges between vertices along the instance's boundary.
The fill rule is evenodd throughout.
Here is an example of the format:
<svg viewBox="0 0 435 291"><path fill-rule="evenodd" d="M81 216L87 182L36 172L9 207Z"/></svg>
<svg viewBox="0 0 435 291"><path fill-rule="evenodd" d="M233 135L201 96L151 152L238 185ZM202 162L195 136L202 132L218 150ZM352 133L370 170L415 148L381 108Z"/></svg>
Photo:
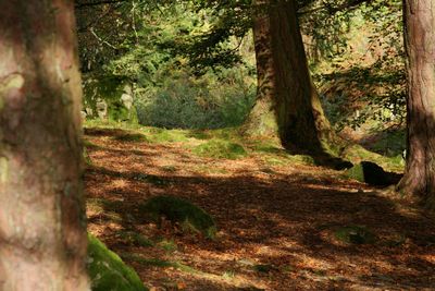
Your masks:
<svg viewBox="0 0 435 291"><path fill-rule="evenodd" d="M398 190L435 210L435 7L403 1L408 72L408 155Z"/></svg>

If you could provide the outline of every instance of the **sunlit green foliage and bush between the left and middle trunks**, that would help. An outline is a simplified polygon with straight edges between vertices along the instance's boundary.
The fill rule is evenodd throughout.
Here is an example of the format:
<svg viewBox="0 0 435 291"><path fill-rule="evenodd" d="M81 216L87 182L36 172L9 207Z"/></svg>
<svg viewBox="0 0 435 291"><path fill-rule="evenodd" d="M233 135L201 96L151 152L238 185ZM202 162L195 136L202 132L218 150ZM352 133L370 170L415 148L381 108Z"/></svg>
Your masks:
<svg viewBox="0 0 435 291"><path fill-rule="evenodd" d="M117 84L132 84L135 99L133 110L137 111L139 122L144 125L216 129L239 125L245 120L256 96L252 60L250 64L239 68L224 69L217 65L209 70L210 66L207 66L199 76L195 65L189 65L189 58L175 52L196 44L195 39L201 38L214 25L217 17L213 11L195 10L189 3L178 2L161 5L159 10L151 9L150 4L132 7L128 15L124 7L126 9L128 5L120 10L116 25L126 24L128 16L132 17L129 29L125 31L127 37L122 38L124 40L121 44L116 39L119 56L104 58L102 72L96 72L97 75L111 76L103 80L97 77L98 83L103 83L100 87L112 86L111 89L99 89L98 97L111 99L112 95L119 95L115 92L122 86ZM104 41L101 43L104 46ZM241 45L239 39L228 39L221 45L220 49L227 49L235 54L244 50L253 56L253 51L247 49L251 44ZM187 50L201 54L200 47ZM204 49L208 51L209 47ZM90 94L95 92L94 81L90 75L85 76L85 96L95 95ZM90 105L96 112L96 101L89 99L86 97L85 108ZM125 108L116 100L110 101L110 119L124 120Z"/></svg>

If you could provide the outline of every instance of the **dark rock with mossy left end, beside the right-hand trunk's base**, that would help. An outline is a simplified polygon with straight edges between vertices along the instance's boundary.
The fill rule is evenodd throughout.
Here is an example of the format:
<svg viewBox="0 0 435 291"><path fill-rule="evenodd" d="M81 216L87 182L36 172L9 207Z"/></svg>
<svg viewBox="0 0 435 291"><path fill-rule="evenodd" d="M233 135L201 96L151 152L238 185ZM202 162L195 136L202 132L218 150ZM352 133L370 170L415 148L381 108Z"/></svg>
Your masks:
<svg viewBox="0 0 435 291"><path fill-rule="evenodd" d="M401 175L386 172L380 166L371 161L361 161L346 171L346 175L357 181L375 186L388 186L397 184Z"/></svg>

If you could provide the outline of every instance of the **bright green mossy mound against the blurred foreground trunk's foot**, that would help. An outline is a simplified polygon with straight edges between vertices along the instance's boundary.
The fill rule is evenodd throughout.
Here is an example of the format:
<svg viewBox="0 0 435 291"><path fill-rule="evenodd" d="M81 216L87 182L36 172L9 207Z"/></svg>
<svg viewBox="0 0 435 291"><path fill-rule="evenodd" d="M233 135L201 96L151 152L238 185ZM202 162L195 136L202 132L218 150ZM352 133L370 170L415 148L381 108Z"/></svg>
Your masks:
<svg viewBox="0 0 435 291"><path fill-rule="evenodd" d="M102 242L88 234L88 272L92 291L144 291L136 271Z"/></svg>

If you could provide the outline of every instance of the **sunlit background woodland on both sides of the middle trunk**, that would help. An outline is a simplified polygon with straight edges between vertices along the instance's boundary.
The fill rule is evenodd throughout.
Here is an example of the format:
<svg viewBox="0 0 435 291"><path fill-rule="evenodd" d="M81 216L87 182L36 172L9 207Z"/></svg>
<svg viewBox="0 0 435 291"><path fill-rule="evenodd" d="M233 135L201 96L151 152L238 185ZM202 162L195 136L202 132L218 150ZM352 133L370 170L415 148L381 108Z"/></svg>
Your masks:
<svg viewBox="0 0 435 291"><path fill-rule="evenodd" d="M97 98L102 98L110 120L132 119L119 112L127 85L142 125L241 125L256 100L256 56L247 12L237 12L247 3L78 3L88 118L98 117ZM406 140L401 1L299 4L310 71L334 129L400 162Z"/></svg>

